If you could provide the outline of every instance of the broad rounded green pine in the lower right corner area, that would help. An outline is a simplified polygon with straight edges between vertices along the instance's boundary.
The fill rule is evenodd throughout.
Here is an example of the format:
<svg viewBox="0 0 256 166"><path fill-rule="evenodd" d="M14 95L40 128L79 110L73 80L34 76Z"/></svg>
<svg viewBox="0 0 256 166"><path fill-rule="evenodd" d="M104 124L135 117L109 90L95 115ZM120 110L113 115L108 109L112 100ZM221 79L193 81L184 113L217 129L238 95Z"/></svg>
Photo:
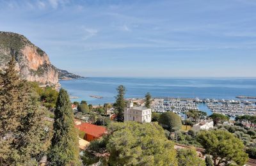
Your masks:
<svg viewBox="0 0 256 166"><path fill-rule="evenodd" d="M224 130L202 131L198 133L198 142L204 147L205 154L212 156L214 165L228 162L243 165L248 160L243 142L230 132Z"/></svg>

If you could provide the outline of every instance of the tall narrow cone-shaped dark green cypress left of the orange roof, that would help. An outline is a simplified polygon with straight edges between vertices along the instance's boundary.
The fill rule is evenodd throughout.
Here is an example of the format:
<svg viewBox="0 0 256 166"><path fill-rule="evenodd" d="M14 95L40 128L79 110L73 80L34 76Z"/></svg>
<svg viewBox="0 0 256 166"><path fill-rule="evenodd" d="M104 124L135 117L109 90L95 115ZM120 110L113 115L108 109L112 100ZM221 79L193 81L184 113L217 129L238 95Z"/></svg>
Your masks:
<svg viewBox="0 0 256 166"><path fill-rule="evenodd" d="M48 154L50 165L77 165L79 163L78 133L74 124L67 91L60 89L54 111L54 135Z"/></svg>

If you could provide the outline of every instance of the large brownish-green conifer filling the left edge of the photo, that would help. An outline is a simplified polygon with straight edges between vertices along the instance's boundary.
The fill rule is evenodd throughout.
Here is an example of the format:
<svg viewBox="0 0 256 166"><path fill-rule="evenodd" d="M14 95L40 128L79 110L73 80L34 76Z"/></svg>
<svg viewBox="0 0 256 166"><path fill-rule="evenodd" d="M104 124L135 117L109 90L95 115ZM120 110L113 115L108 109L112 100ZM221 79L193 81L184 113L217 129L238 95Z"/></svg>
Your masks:
<svg viewBox="0 0 256 166"><path fill-rule="evenodd" d="M0 73L0 165L38 165L47 151L51 128L33 90L15 71L13 56Z"/></svg>

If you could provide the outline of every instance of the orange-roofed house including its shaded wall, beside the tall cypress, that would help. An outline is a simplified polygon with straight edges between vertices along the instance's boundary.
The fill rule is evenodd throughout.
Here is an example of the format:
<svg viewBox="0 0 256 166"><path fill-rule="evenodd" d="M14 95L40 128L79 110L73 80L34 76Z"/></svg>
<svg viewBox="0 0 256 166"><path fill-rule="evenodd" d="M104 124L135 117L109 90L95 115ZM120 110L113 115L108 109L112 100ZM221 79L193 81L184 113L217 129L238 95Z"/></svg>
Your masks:
<svg viewBox="0 0 256 166"><path fill-rule="evenodd" d="M78 130L85 132L84 140L87 140L89 142L95 139L99 139L100 137L107 133L107 129L105 127L97 126L95 124L90 123L77 124L76 128L78 128Z"/></svg>

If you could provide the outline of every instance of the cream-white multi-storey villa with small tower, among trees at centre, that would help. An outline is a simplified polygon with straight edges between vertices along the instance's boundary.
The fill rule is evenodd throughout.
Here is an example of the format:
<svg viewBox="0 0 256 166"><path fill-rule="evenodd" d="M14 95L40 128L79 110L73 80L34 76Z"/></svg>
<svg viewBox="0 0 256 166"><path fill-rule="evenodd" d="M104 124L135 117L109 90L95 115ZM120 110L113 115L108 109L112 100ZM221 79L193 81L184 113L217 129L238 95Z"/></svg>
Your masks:
<svg viewBox="0 0 256 166"><path fill-rule="evenodd" d="M140 123L151 122L151 109L146 107L134 107L133 103L128 103L124 110L124 121L137 121Z"/></svg>

